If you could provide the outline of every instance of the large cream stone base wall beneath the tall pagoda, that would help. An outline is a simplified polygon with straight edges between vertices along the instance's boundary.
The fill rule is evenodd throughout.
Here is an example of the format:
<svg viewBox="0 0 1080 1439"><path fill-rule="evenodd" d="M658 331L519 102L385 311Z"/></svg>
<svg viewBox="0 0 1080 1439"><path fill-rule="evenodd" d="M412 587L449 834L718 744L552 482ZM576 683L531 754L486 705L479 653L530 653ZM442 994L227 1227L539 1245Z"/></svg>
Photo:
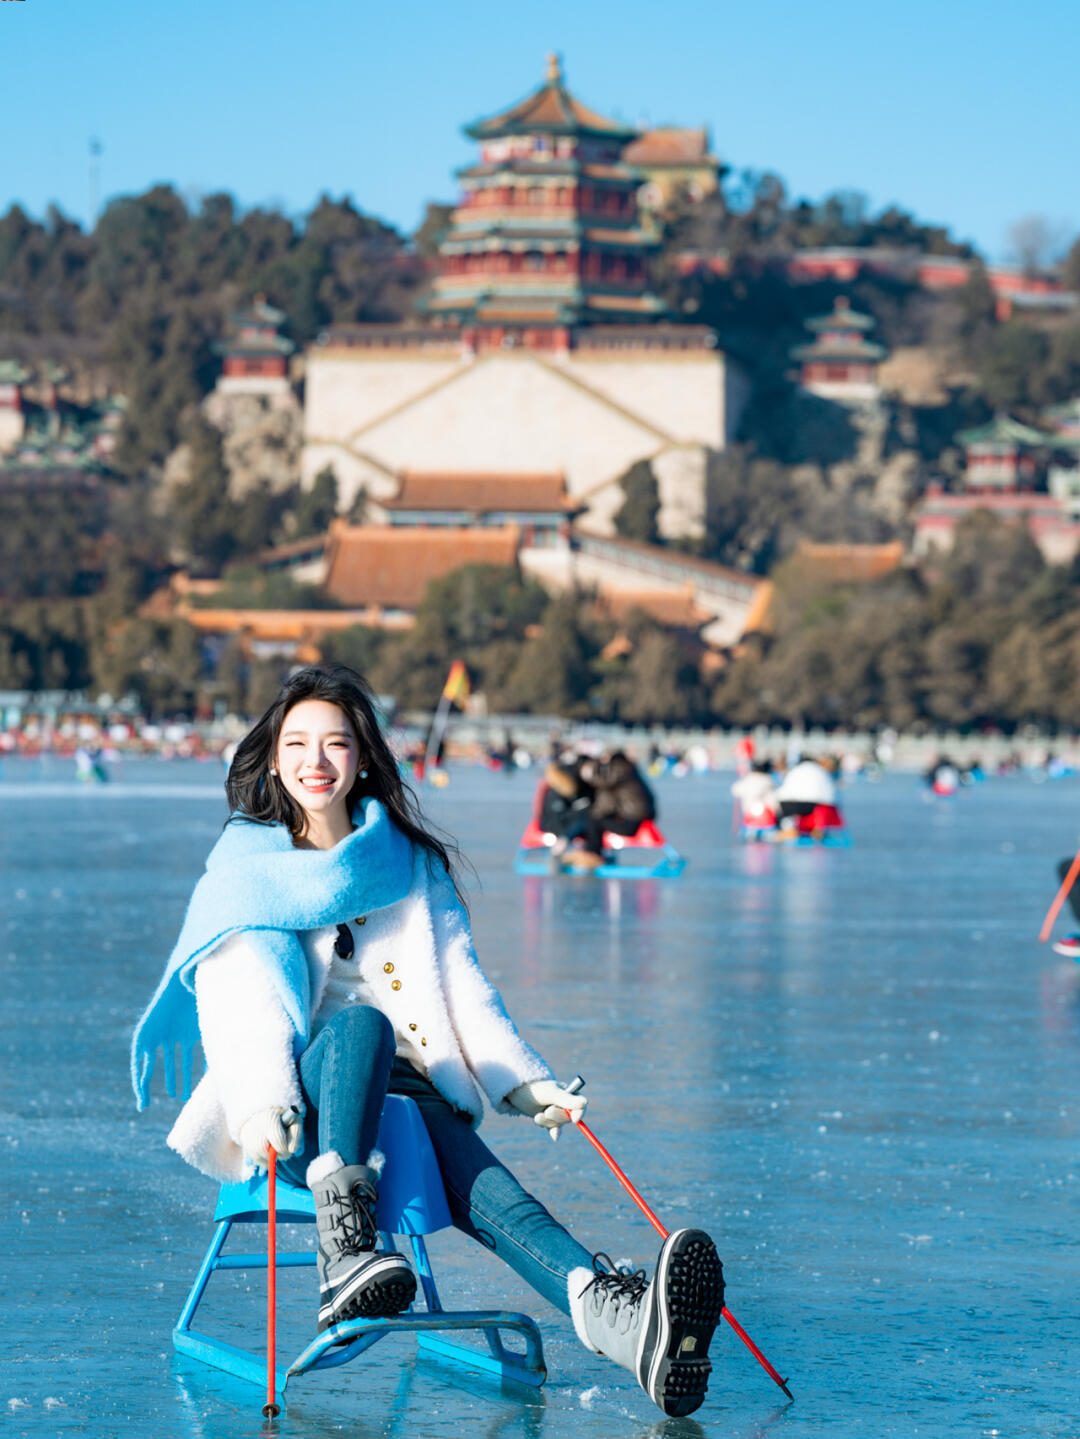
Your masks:
<svg viewBox="0 0 1080 1439"><path fill-rule="evenodd" d="M590 527L610 532L623 502L618 478L636 460L656 459L663 532L700 534L702 448L731 439L732 373L716 351L467 360L315 347L306 357L302 479L311 485L332 465L348 507L361 485L388 498L404 469L559 471Z"/></svg>

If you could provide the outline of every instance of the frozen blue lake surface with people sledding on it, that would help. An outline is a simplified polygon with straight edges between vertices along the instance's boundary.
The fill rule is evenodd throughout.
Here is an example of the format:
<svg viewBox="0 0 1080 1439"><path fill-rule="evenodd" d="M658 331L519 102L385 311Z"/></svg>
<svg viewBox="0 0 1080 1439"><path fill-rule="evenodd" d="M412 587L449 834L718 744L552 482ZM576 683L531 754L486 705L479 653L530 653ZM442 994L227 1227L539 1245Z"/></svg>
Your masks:
<svg viewBox="0 0 1080 1439"><path fill-rule="evenodd" d="M9 761L0 777L0 1282L12 1435L233 1439L259 1396L173 1353L214 1186L137 1115L132 1022L224 819L211 764L119 783ZM801 1439L1074 1436L1080 1361L1080 967L1035 943L1080 783L989 780L926 802L910 777L846 791L850 850L738 849L722 776L664 780L676 881L522 879L534 778L456 770L426 796L473 861L480 958L669 1226L709 1229L731 1330L693 1420L454 1233L431 1242L450 1307L541 1324L544 1390L500 1390L390 1338L290 1387L282 1436L569 1439L768 1430ZM1058 930L1064 922L1058 924ZM572 1132L489 1117L485 1137L590 1249L651 1268L653 1233ZM263 1278L200 1327L257 1347ZM283 1272L279 1361L314 1331L311 1271ZM246 1330L242 1325L246 1324Z"/></svg>

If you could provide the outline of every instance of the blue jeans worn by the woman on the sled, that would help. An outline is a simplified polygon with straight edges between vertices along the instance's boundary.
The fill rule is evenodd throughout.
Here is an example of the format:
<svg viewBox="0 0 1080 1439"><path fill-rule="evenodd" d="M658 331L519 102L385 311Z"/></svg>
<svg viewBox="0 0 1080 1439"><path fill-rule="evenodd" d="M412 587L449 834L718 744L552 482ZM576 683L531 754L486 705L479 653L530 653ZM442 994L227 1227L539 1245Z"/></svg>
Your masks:
<svg viewBox="0 0 1080 1439"><path fill-rule="evenodd" d="M315 1154L337 1150L347 1164L367 1163L387 1094L414 1099L443 1177L454 1227L490 1249L557 1309L569 1314L567 1276L592 1256L500 1164L469 1115L444 1099L404 1059L377 1009L352 1004L331 1019L299 1059L308 1112L303 1157L282 1160L280 1174L305 1184Z"/></svg>

